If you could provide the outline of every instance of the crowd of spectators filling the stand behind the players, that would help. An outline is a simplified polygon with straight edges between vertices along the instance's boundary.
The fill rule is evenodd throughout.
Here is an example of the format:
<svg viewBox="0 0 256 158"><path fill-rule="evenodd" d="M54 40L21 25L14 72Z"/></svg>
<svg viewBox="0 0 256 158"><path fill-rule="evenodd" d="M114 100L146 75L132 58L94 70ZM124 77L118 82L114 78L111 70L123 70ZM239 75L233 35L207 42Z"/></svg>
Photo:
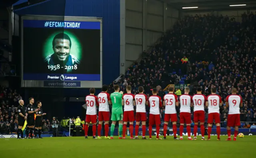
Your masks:
<svg viewBox="0 0 256 158"><path fill-rule="evenodd" d="M217 87L225 105L226 97L235 87L243 99L241 121L256 122L256 14L244 13L241 17L242 22L222 15L185 16L152 50L144 51L142 60L133 63L120 80L113 82L109 92L113 92L114 84L121 91L131 85L134 94L143 86L149 96L150 89L156 87L163 97L167 85L180 84L185 77L184 84L201 86L206 96L211 87ZM188 62L184 62L186 58ZM224 105L220 108L223 126L228 113ZM207 119L207 109L205 112ZM163 113L164 107L162 120Z"/></svg>

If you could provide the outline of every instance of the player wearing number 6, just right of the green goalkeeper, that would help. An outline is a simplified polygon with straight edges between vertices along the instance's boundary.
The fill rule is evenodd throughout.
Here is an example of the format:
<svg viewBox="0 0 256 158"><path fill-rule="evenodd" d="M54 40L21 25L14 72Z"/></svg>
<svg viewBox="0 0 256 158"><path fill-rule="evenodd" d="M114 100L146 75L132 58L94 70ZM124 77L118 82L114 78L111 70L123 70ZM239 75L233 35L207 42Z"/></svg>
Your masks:
<svg viewBox="0 0 256 158"><path fill-rule="evenodd" d="M123 125L123 139L125 139L125 132L126 132L126 126L127 122L129 121L129 131L130 131L130 139L133 138L133 121L134 121L134 105L135 103L135 96L131 93L132 87L128 85L126 87L127 93L123 95L122 97L122 105L124 105L124 125Z"/></svg>

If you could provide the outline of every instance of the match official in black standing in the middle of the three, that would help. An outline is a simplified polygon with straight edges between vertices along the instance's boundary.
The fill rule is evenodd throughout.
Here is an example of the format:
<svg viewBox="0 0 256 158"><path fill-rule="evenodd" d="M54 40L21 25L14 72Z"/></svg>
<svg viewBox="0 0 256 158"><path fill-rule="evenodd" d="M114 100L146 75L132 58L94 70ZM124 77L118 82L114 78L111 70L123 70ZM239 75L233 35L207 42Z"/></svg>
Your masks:
<svg viewBox="0 0 256 158"><path fill-rule="evenodd" d="M34 113L39 111L40 109L35 109L33 104L34 104L34 98L30 98L29 104L27 105L27 131L26 131L26 136L28 139L33 138L33 133L34 133L34 126L35 126L35 120L34 120ZM30 134L30 136L29 136Z"/></svg>

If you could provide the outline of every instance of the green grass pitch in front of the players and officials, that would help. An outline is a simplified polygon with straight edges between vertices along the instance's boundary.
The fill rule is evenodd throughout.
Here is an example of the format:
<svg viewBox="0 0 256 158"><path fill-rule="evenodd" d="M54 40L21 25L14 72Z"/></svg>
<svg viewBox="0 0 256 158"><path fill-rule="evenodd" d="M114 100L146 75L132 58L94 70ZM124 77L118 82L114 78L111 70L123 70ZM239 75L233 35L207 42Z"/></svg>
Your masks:
<svg viewBox="0 0 256 158"><path fill-rule="evenodd" d="M206 136L207 137L207 136ZM128 136L127 136L128 138ZM141 137L140 137L141 138ZM148 136L147 136L148 138ZM161 136L162 138L162 136ZM0 139L0 158L252 158L256 136L244 136L237 141L174 140L114 140L58 137L43 139ZM233 136L231 137L233 138Z"/></svg>

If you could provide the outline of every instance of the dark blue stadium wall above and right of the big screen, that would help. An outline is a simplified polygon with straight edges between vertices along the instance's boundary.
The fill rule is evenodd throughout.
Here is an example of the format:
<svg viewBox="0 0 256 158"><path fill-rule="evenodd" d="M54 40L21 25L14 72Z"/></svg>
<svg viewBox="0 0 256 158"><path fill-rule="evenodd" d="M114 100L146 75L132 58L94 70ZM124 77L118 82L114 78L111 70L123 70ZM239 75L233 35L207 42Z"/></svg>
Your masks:
<svg viewBox="0 0 256 158"><path fill-rule="evenodd" d="M47 15L103 18L103 84L112 83L120 75L120 0L46 0L39 4L20 8L14 12L20 16ZM67 93L77 96L81 93L86 95L88 89L69 89ZM68 95L67 93L66 95Z"/></svg>

